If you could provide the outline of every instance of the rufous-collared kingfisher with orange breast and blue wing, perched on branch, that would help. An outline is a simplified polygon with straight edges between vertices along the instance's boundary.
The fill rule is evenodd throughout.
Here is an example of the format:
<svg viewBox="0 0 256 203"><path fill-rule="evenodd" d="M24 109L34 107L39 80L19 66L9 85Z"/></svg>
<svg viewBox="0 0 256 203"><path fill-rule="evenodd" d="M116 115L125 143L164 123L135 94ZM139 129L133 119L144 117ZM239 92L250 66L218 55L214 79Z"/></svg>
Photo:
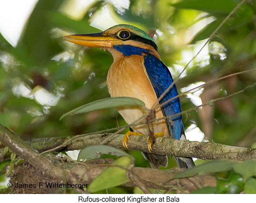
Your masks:
<svg viewBox="0 0 256 203"><path fill-rule="evenodd" d="M125 134L124 148L128 149L130 135L148 135L149 152L141 152L142 155L150 161L151 168L158 169L160 165L167 167L167 155L151 153L154 137L183 140L185 132L182 115L179 114L181 102L177 97L177 87L172 84L171 72L161 61L158 47L150 35L136 26L119 24L102 32L63 35L62 38L87 47L98 47L112 54L113 63L106 79L110 97L134 97L143 101L148 109L163 104L161 108L151 111L151 119L167 119L158 119L151 123L148 122L150 115L141 106L120 106L117 110L128 125L141 119L139 125L132 125ZM171 84L173 86L170 90L161 97ZM175 98L172 99L173 97ZM175 159L179 168L194 166L192 158Z"/></svg>

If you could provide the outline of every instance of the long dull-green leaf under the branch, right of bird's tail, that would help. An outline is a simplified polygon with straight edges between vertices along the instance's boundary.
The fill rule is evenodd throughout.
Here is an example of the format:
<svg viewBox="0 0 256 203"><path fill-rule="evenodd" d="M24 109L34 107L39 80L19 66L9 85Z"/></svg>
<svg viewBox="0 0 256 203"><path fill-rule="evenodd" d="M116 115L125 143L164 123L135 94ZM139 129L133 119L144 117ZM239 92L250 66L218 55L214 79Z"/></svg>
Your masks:
<svg viewBox="0 0 256 203"><path fill-rule="evenodd" d="M207 163L200 164L199 166L196 166L194 168L179 172L175 176L173 176L172 179L191 177L197 173L228 171L232 169L236 163L238 162L233 160L213 160Z"/></svg>

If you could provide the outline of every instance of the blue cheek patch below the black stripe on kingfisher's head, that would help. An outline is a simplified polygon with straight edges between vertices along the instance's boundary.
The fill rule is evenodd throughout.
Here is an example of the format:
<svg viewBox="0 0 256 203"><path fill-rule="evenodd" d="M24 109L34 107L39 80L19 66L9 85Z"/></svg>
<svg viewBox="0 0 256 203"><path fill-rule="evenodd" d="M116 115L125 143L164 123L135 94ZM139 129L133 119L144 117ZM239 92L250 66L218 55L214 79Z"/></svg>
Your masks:
<svg viewBox="0 0 256 203"><path fill-rule="evenodd" d="M150 54L149 49L143 49L140 47L134 47L132 45L114 45L114 49L124 54L124 56L131 56L131 55L142 55L142 53Z"/></svg>

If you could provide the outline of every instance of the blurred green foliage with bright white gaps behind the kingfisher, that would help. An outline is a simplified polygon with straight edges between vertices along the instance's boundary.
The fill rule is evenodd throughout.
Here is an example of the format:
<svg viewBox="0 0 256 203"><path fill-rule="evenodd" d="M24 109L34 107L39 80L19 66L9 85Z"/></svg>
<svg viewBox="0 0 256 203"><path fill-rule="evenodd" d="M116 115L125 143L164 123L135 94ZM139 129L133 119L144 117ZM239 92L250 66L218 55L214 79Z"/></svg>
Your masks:
<svg viewBox="0 0 256 203"><path fill-rule="evenodd" d="M110 53L69 43L62 40L62 35L97 32L119 23L138 26L153 37L162 61L176 78L240 2L38 0L16 46L0 33L0 124L23 140L125 125L114 108L59 121L61 115L75 107L110 97L106 74L112 63ZM181 75L177 82L180 93L225 75L255 69L255 12L256 4L250 0L235 11ZM225 97L255 81L256 71L215 81L181 96L182 109ZM252 86L234 97L184 114L187 137L232 146L256 146L255 92L256 87ZM149 167L140 152L130 153L136 157L136 166ZM175 166L171 160L168 167ZM115 193L128 192L118 190Z"/></svg>

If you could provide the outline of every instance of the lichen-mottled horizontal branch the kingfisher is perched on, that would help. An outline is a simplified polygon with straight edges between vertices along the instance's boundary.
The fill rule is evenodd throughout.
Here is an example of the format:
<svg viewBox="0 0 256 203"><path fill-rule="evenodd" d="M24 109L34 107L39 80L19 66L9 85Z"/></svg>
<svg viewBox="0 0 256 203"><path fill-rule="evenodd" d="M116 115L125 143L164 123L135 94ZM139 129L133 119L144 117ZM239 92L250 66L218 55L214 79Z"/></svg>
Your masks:
<svg viewBox="0 0 256 203"><path fill-rule="evenodd" d="M43 152L49 150L46 143L50 143L52 148L61 146L66 142L65 146L57 149L60 150L79 150L87 146L92 146L102 143L108 139L112 134L93 134L93 135L79 135L75 137L61 137L61 138L35 138L27 141L34 149ZM106 145L114 146L119 149L124 149L122 145L124 135L116 134L111 137ZM139 150L148 152L148 142L146 136L130 136L128 140L129 150ZM159 155L175 155L181 157L196 157L198 159L233 159L233 160L247 160L256 159L255 148L245 148L237 146L228 146L213 142L199 142L199 141L181 141L167 137L157 137L153 145L154 154Z"/></svg>

